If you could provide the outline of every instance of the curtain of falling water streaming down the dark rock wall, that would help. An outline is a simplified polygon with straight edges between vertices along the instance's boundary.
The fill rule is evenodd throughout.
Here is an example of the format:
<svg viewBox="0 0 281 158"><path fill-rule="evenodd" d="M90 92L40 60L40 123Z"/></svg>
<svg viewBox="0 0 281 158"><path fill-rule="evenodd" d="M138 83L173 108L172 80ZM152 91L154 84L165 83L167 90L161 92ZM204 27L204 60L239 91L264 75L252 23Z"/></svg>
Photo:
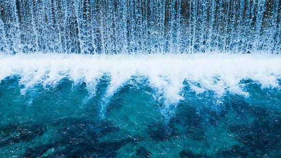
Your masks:
<svg viewBox="0 0 281 158"><path fill-rule="evenodd" d="M1 0L0 52L281 51L279 0Z"/></svg>

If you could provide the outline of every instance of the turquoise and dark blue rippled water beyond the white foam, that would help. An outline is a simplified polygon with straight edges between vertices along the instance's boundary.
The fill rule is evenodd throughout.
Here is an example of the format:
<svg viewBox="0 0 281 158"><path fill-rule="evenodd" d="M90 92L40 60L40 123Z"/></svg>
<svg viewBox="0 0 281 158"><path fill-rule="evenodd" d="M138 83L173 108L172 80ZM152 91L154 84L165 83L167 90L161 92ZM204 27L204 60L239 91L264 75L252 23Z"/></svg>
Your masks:
<svg viewBox="0 0 281 158"><path fill-rule="evenodd" d="M28 72L27 67L15 69L0 83L1 157L281 156L279 75L275 74L276 85L270 87L263 80L239 79L247 95L235 93L227 85L221 88L222 95L212 88L197 92L194 85L207 87L203 80L186 77L178 93L181 99L167 102L170 93L152 86L149 75L129 76L108 95L112 72L95 80L95 93L91 93L85 79L77 82L64 72L56 84L28 86L38 81L35 72L40 70L27 82L22 74ZM46 78L51 78L54 67L45 69ZM213 85L227 78L216 74Z"/></svg>

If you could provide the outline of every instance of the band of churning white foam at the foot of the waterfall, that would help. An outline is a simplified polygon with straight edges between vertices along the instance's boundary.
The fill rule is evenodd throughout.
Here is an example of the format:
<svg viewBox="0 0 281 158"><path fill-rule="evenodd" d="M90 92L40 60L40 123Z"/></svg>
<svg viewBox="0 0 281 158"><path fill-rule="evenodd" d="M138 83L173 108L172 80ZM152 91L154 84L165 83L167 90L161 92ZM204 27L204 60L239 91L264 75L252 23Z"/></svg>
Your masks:
<svg viewBox="0 0 281 158"><path fill-rule="evenodd" d="M213 90L218 96L226 91L247 96L239 85L251 78L262 87L277 87L281 78L281 56L278 55L77 55L77 54L17 54L0 55L0 80L13 74L21 76L25 91L38 83L56 85L67 76L75 83L87 83L89 92L104 74L110 75L106 97L127 82L131 76L147 76L153 87L169 103L182 96L183 81L193 83L197 94ZM200 87L194 83L199 83Z"/></svg>

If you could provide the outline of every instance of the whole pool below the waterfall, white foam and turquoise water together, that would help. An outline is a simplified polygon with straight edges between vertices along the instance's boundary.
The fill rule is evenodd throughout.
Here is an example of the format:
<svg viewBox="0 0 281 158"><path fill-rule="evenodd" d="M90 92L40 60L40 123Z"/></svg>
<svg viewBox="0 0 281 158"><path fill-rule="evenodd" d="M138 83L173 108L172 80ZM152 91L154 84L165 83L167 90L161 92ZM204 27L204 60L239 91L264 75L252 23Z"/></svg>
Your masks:
<svg viewBox="0 0 281 158"><path fill-rule="evenodd" d="M279 157L279 60L1 56L1 157Z"/></svg>

